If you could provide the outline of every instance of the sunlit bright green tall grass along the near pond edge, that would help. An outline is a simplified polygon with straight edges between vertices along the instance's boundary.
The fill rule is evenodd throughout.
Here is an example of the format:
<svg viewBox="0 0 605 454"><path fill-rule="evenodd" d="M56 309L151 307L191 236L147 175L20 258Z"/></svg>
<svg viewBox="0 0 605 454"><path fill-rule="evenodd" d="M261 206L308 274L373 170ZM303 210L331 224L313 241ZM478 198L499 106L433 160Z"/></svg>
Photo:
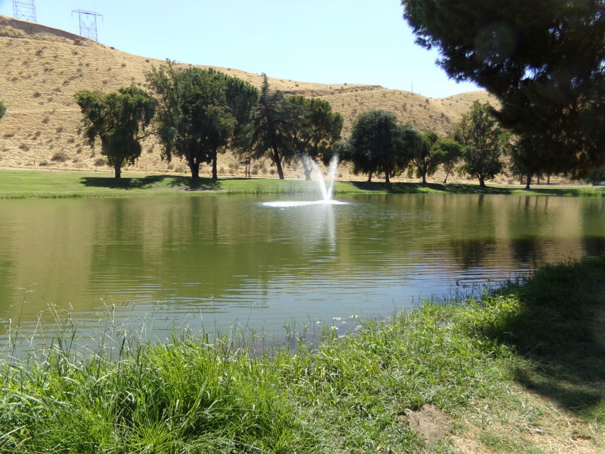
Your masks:
<svg viewBox="0 0 605 454"><path fill-rule="evenodd" d="M499 364L425 304L367 321L319 347L253 350L208 335L77 354L64 341L4 363L4 452L405 452L420 446L398 416L491 395ZM236 347L237 346L237 347ZM503 353L505 356L506 354ZM112 355L114 358L112 358Z"/></svg>

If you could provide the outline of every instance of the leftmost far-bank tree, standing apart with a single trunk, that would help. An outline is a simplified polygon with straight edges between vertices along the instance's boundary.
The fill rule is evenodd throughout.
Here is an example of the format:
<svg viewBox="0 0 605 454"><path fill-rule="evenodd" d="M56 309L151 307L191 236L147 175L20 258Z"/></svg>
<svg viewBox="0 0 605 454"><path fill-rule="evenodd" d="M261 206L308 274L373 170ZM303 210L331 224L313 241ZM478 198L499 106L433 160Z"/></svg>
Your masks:
<svg viewBox="0 0 605 454"><path fill-rule="evenodd" d="M82 111L88 143L94 146L97 137L100 139L101 153L120 178L122 167L141 156L139 134L154 116L155 101L135 85L108 94L82 90L74 97Z"/></svg>

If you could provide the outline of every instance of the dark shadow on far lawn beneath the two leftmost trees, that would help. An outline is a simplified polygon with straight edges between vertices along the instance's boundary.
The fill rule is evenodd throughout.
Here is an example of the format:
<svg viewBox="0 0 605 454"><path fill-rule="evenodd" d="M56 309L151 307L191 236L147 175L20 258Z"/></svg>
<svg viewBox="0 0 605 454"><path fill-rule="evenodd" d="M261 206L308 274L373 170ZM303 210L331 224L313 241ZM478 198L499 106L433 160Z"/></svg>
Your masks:
<svg viewBox="0 0 605 454"><path fill-rule="evenodd" d="M213 191L221 188L221 182L211 178L193 179L173 175L149 175L146 177L83 177L84 186L108 189L151 189L165 182L169 188L184 191Z"/></svg>

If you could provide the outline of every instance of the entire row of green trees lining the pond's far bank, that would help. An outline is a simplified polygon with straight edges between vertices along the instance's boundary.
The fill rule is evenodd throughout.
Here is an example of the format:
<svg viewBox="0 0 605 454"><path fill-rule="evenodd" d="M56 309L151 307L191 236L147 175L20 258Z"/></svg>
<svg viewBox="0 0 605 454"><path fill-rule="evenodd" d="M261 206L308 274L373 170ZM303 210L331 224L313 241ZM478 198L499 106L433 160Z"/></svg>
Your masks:
<svg viewBox="0 0 605 454"><path fill-rule="evenodd" d="M271 90L264 74L259 91L216 70L177 68L168 61L152 68L146 81L149 93L132 85L110 94L83 90L75 95L82 133L91 146L100 140L117 178L122 166L140 156L140 140L149 134L158 137L162 158L184 159L193 178L200 176L200 165L208 164L217 179L218 154L229 149L248 163L267 157L280 179L283 164L302 154L310 159L301 159L307 179L313 162L327 163L335 154L351 163L353 173L367 174L368 181L381 175L387 183L405 171L426 183L440 167L446 183L457 166L459 174L485 186L503 170L504 154L512 157L513 173L528 173L489 104L475 102L445 137L400 124L391 112L369 110L356 117L348 140L340 141L343 118L329 102L286 97Z"/></svg>

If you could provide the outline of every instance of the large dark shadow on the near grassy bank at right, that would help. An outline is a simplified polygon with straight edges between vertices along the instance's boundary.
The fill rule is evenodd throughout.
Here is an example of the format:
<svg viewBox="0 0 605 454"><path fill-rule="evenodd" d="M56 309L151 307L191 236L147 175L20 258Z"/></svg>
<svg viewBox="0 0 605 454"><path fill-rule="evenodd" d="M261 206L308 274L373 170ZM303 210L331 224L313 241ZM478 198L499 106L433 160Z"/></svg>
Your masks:
<svg viewBox="0 0 605 454"><path fill-rule="evenodd" d="M515 379L605 423L605 257L547 265L519 291L522 311L483 334L529 361Z"/></svg>

